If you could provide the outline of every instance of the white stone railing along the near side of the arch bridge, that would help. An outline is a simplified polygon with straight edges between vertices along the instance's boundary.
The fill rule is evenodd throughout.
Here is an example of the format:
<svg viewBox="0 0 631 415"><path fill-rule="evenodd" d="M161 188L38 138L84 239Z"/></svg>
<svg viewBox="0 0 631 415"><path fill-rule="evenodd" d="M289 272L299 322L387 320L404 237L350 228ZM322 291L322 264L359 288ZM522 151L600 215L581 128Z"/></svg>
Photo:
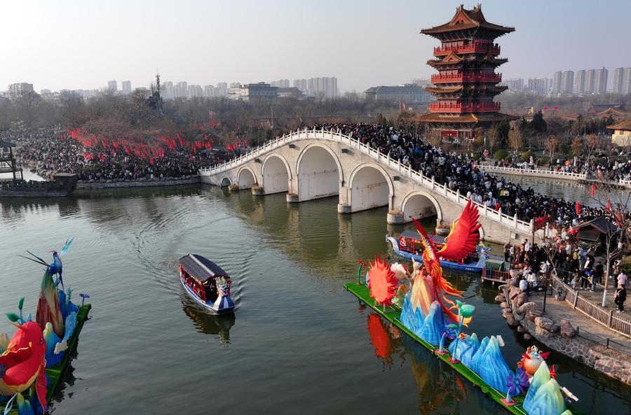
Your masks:
<svg viewBox="0 0 631 415"><path fill-rule="evenodd" d="M290 132L290 134L283 134L283 136L281 137L278 137L271 141L267 141L266 143L264 143L263 146L259 146L251 150L249 153L241 155L240 157L236 157L233 160L218 164L217 166L210 167L209 169L200 169L199 174L200 176L214 176L215 174L223 173L224 171L233 169L234 167L238 167L245 162L254 160L260 155L269 153L270 151L279 148L280 146L285 146L285 144L292 143L293 141L304 139L323 139L327 141L335 141L337 143L343 143L347 146L357 148L362 154L371 157L382 166L389 167L390 169L398 171L403 176L411 178L413 181L419 183L424 188L427 188L432 192L436 192L437 194L446 197L456 204L465 206L468 202L468 199L461 195L459 190L454 192L454 190L449 189L447 185L436 183L434 178L423 176L423 174L419 171L412 170L411 166L406 166L398 160L393 160L388 155L381 153L381 151L376 150L375 148L371 148L367 144L363 144L360 141L351 138L351 136L341 134L339 130L337 132L333 132L326 131L325 129L316 130L314 128L292 131ZM483 216L484 218L494 220L495 222L501 223L506 227L515 230L516 232L521 232L522 234L530 234L532 232L532 228L534 226L532 220L530 222L524 222L523 220L517 219L517 215L508 216L502 213L501 209L499 211L496 211L495 209L489 208L485 204L479 204L477 202L473 203L477 204L480 216Z"/></svg>

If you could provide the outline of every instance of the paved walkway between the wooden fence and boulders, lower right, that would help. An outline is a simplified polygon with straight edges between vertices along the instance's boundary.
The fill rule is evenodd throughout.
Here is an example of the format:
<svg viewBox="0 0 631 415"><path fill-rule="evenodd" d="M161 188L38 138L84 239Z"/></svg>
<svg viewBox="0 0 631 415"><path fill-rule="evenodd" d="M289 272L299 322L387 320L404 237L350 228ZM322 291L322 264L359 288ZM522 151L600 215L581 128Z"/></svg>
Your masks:
<svg viewBox="0 0 631 415"><path fill-rule="evenodd" d="M585 292L579 291L579 293L583 295ZM539 309L543 310L543 295L531 295L529 301L536 302ZM603 345L606 344L606 339L609 338L609 347L625 353L631 353L631 339L629 337L618 335L618 333L612 332L604 325L585 316L581 311L572 309L571 304L565 300L557 301L554 296L548 296L545 304L545 314L557 324L562 318L568 319L575 328L578 328L578 333L581 337Z"/></svg>

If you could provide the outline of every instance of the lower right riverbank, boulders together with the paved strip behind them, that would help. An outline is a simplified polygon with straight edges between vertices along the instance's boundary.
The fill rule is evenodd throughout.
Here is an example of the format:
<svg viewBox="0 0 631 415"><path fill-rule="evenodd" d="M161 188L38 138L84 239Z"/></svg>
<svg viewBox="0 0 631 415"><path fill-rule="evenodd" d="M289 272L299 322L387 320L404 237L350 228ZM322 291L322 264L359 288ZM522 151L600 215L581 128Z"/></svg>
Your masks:
<svg viewBox="0 0 631 415"><path fill-rule="evenodd" d="M516 328L520 334L534 337L550 349L563 353L578 363L631 386L631 353L627 352L631 349L612 349L598 342L596 335L589 338L590 332L598 331L597 326L592 327L592 324L597 323L580 319L568 312L564 304L560 304L564 300L548 298L544 313L541 311L543 297L529 297L522 293L517 284L517 279L508 280L505 285L500 286L501 294L496 298L502 301L502 315L508 325ZM577 321L579 325L576 325ZM581 335L581 329L577 330L577 327L582 328ZM625 339L622 337L619 341L624 346Z"/></svg>

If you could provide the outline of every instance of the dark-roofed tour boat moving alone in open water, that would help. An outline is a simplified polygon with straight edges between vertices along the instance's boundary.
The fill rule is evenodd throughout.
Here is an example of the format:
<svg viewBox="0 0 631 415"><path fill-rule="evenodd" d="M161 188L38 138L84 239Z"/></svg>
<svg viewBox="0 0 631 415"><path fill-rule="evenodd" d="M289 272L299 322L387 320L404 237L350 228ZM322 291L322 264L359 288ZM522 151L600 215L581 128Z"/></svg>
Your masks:
<svg viewBox="0 0 631 415"><path fill-rule="evenodd" d="M231 279L227 272L201 255L189 253L179 258L179 279L195 302L213 314L231 313Z"/></svg>

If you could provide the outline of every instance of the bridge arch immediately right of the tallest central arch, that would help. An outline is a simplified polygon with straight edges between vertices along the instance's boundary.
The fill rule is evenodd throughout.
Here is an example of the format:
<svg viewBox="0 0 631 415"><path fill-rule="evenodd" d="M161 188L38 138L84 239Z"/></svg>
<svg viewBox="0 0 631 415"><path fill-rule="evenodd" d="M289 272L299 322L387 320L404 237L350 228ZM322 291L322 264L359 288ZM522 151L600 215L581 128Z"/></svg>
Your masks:
<svg viewBox="0 0 631 415"><path fill-rule="evenodd" d="M351 188L351 211L365 211L379 206L392 208L394 188L390 175L375 163L355 167L348 179Z"/></svg>

